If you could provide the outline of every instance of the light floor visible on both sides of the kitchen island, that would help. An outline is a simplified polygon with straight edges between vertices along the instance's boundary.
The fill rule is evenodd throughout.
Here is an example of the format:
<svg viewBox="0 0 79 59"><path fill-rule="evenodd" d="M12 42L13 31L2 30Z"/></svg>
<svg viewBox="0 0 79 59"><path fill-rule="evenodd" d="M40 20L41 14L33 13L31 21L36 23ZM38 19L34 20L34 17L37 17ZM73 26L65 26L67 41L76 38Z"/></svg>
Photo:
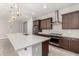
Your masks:
<svg viewBox="0 0 79 59"><path fill-rule="evenodd" d="M49 56L78 56L79 54L49 45ZM18 56L9 39L0 39L0 56Z"/></svg>

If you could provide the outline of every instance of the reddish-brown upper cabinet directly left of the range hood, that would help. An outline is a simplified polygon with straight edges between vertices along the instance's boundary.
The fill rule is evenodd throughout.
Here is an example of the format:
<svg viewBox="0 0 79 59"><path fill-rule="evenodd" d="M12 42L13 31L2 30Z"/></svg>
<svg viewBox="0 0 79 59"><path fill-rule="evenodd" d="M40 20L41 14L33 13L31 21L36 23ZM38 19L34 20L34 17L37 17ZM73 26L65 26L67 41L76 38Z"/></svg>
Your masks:
<svg viewBox="0 0 79 59"><path fill-rule="evenodd" d="M52 29L52 18L41 20L41 29Z"/></svg>

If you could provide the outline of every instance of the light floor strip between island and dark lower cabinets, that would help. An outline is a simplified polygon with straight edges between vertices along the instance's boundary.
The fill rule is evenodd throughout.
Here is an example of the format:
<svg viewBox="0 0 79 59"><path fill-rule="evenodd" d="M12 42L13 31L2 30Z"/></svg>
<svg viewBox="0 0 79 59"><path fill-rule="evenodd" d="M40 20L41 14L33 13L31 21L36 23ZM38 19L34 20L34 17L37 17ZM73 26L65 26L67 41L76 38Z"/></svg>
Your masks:
<svg viewBox="0 0 79 59"><path fill-rule="evenodd" d="M79 56L79 54L49 45L49 56Z"/></svg>

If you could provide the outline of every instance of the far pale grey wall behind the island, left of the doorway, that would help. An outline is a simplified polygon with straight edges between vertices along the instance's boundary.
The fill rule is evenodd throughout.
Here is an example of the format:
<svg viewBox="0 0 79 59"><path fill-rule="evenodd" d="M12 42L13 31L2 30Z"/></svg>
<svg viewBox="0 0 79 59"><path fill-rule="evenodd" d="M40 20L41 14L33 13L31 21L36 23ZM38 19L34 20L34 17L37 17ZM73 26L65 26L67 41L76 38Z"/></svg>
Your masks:
<svg viewBox="0 0 79 59"><path fill-rule="evenodd" d="M21 33L22 32L22 25L21 21L15 21L13 24L8 24L8 33Z"/></svg>

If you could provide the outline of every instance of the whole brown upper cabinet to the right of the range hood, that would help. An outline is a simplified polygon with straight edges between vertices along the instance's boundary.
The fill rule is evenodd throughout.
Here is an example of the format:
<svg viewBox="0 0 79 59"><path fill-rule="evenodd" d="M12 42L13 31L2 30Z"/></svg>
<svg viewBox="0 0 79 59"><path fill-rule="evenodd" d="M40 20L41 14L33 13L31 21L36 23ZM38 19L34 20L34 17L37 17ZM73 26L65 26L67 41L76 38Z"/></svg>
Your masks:
<svg viewBox="0 0 79 59"><path fill-rule="evenodd" d="M63 29L79 29L79 11L62 15Z"/></svg>

